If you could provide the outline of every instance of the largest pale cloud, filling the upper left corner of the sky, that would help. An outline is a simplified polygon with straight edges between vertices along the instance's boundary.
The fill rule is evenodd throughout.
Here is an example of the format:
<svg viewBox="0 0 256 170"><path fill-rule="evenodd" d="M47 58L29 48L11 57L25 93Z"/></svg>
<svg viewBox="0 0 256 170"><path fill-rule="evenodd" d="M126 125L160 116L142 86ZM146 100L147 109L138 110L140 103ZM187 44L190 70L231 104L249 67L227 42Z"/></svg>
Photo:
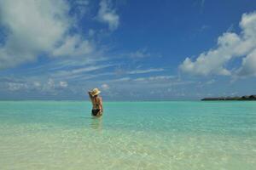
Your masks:
<svg viewBox="0 0 256 170"><path fill-rule="evenodd" d="M90 54L94 45L78 33L69 33L77 20L70 10L65 0L0 1L0 29L5 34L0 69L35 60L42 53L54 57Z"/></svg>

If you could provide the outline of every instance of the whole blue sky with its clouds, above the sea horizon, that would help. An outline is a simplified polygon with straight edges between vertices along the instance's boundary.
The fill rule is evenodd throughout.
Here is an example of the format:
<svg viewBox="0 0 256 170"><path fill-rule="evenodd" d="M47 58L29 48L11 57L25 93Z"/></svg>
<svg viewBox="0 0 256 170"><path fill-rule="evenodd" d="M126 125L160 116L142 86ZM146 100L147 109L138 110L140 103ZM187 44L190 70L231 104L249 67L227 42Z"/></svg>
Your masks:
<svg viewBox="0 0 256 170"><path fill-rule="evenodd" d="M253 0L2 0L0 99L256 94Z"/></svg>

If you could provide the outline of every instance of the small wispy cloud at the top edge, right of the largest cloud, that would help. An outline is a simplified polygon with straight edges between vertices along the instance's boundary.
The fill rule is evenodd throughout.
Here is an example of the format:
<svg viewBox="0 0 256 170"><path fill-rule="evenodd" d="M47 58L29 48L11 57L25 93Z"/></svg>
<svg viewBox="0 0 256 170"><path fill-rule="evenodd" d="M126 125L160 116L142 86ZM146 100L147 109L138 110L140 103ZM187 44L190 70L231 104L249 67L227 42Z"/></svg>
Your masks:
<svg viewBox="0 0 256 170"><path fill-rule="evenodd" d="M100 2L97 18L102 23L107 23L111 31L116 30L119 26L119 15L116 14L115 9L111 8L109 0L102 0Z"/></svg>

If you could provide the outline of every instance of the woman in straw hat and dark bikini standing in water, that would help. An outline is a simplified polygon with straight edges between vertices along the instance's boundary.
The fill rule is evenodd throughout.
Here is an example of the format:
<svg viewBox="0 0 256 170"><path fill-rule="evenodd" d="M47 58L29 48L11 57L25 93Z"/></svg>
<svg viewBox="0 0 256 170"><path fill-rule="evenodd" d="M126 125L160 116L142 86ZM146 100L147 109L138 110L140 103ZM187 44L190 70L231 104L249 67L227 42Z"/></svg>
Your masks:
<svg viewBox="0 0 256 170"><path fill-rule="evenodd" d="M103 107L102 107L102 97L98 96L101 91L98 88L94 88L89 91L90 101L92 103L92 116L102 116Z"/></svg>

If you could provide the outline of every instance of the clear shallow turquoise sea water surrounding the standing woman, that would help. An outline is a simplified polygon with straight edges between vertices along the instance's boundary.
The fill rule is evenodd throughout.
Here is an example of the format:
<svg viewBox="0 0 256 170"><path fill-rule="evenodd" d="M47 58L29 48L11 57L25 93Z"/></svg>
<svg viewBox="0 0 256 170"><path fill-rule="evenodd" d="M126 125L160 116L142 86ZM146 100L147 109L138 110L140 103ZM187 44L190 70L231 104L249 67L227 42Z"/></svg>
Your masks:
<svg viewBox="0 0 256 170"><path fill-rule="evenodd" d="M1 101L0 169L256 167L256 102Z"/></svg>

